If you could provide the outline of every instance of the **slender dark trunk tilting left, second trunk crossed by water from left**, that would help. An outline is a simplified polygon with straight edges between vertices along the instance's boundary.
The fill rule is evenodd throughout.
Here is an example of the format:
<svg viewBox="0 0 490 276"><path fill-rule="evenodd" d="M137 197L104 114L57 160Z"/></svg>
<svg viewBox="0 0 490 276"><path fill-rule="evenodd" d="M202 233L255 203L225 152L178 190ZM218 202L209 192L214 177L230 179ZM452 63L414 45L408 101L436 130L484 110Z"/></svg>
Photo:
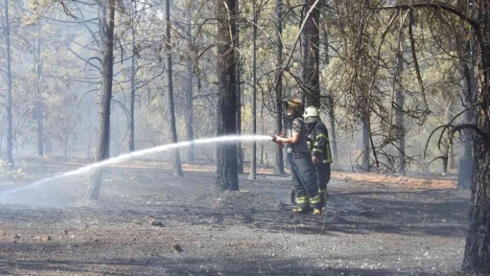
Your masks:
<svg viewBox="0 0 490 276"><path fill-rule="evenodd" d="M171 139L173 143L178 142L177 140L177 127L175 123L175 110L174 110L174 84L172 80L172 25L170 24L170 0L165 0L165 9L166 9L166 19L167 19L167 28L166 35L167 38L165 40L165 48L167 52L167 100L168 100L168 110L170 112L170 131L171 131ZM179 153L179 149L173 149L172 154L172 165L174 167L174 176L183 176L182 172L182 164L181 164L181 156Z"/></svg>

